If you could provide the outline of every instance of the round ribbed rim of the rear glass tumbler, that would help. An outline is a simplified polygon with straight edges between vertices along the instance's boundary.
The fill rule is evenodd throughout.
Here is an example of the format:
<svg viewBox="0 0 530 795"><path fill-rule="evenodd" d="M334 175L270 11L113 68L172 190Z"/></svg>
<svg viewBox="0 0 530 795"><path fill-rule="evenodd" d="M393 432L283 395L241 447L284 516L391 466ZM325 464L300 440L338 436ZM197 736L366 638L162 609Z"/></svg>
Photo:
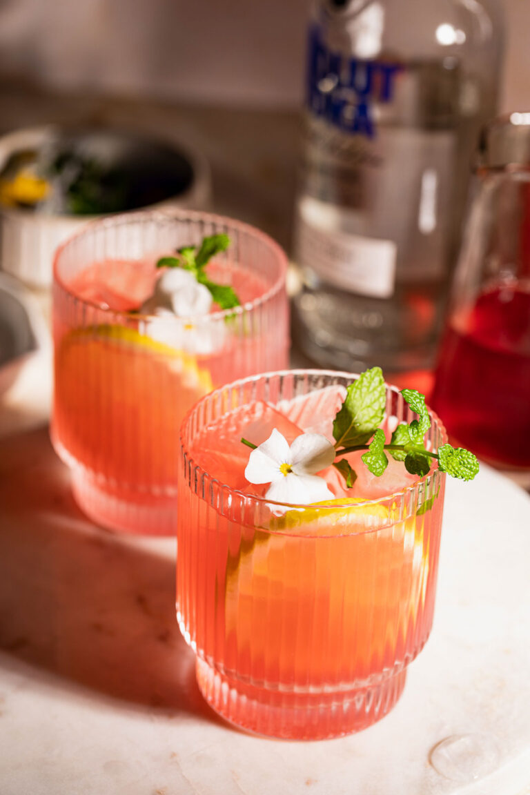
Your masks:
<svg viewBox="0 0 530 795"><path fill-rule="evenodd" d="M262 293L257 298L253 298L252 301L246 301L245 304L241 304L240 306L235 306L230 309L219 309L217 312L208 312L207 315L188 315L185 317L180 317L177 315L171 317L165 315L156 315L152 312L137 312L134 310L111 309L110 307L103 307L96 301L88 301L86 298L80 298L72 289L68 287L68 285L65 284L64 279L60 277L58 271L60 259L69 246L77 242L80 238L83 238L85 235L90 234L95 229L97 230L102 227L115 227L134 221L141 222L144 219L151 219L153 221L157 221L157 219L166 221L172 219L187 219L190 221L206 221L207 223L218 223L224 226L235 227L238 231L246 232L247 235L250 235L253 238L261 239L261 241L265 242L265 244L269 246L270 250L277 258L278 265L280 266L280 273L276 281L273 282L273 285L269 287L265 293ZM58 286L63 293L66 293L68 298L75 304L90 307L97 312L106 312L114 318L122 318L122 320L141 320L148 322L156 320L157 324L164 323L168 326L174 326L176 321L179 321L179 324L186 324L190 321L194 321L195 324L199 322L202 324L226 320L226 318L242 316L246 312L252 312L257 308L260 308L261 305L269 303L269 301L271 301L277 296L278 293L280 293L282 285L285 285L287 269L287 254L285 254L280 244L277 243L276 240L274 240L270 235L267 235L266 232L261 231L261 229L258 229L257 227L253 227L252 224L245 223L244 221L238 221L237 219L230 218L228 215L219 215L217 213L203 212L200 210L184 210L181 207L168 207L167 209L145 209L131 212L120 212L115 213L114 215L92 217L92 219L88 220L82 229L76 231L75 234L71 235L67 240L62 242L60 246L57 246L55 254L53 255L52 276L53 284Z"/></svg>

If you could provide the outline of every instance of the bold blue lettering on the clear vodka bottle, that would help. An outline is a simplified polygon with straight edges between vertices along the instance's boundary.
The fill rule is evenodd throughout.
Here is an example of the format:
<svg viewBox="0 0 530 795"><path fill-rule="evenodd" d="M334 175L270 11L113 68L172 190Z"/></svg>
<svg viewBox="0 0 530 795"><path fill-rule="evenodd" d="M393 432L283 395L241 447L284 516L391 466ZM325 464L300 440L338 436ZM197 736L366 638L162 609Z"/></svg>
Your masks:
<svg viewBox="0 0 530 795"><path fill-rule="evenodd" d="M374 138L374 104L390 103L403 64L332 52L318 25L309 31L307 103L311 113L346 133Z"/></svg>

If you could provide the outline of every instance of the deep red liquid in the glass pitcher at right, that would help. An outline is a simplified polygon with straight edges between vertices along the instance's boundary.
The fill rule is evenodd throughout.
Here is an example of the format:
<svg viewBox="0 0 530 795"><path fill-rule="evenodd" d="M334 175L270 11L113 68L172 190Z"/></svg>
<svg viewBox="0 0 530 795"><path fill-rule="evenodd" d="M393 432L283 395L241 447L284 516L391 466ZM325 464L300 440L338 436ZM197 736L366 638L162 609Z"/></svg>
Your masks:
<svg viewBox="0 0 530 795"><path fill-rule="evenodd" d="M530 467L530 286L496 285L451 319L431 404L458 444Z"/></svg>

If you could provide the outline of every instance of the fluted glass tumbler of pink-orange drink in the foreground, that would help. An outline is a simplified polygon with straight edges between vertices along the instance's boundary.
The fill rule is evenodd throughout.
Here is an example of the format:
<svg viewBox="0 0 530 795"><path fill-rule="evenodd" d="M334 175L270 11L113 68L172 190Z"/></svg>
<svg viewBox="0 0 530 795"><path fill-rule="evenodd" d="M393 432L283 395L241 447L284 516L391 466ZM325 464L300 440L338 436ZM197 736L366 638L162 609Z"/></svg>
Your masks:
<svg viewBox="0 0 530 795"><path fill-rule="evenodd" d="M273 511L215 471L221 454L230 466L238 443L234 412L251 413L258 401L280 410L354 378L318 370L247 378L204 397L180 431L177 619L207 702L261 735L323 739L374 723L396 704L431 630L441 472L384 498ZM412 416L389 386L385 424ZM446 436L432 420L427 445L437 448ZM211 426L220 452L207 450L207 471L197 450Z"/></svg>

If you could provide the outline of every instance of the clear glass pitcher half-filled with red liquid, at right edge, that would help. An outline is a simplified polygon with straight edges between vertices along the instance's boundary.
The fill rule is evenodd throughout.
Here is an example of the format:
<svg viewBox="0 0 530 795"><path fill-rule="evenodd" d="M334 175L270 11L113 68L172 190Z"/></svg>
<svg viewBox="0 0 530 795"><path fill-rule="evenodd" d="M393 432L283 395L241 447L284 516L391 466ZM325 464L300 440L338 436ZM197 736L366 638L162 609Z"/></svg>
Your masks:
<svg viewBox="0 0 530 795"><path fill-rule="evenodd" d="M530 113L486 127L475 188L431 405L454 442L530 485Z"/></svg>

